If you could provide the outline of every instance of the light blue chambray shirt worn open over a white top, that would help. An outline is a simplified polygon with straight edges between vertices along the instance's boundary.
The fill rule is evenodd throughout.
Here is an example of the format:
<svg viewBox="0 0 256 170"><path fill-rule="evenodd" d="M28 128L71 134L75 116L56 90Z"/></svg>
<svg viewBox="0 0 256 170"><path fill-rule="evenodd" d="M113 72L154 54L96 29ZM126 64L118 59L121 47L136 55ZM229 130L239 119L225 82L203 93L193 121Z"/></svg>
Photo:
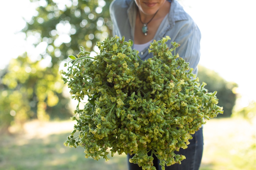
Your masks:
<svg viewBox="0 0 256 170"><path fill-rule="evenodd" d="M161 40L168 35L171 38L166 42L169 48L171 42L180 44L176 53L189 62L190 68L194 69L193 73L197 74L197 64L200 59L200 30L176 0L171 3L170 11L159 25L154 40ZM113 35L125 36L125 41L134 41L136 15L137 9L134 0L112 1L110 17L114 26ZM152 53L148 53L148 48L149 46L139 54L142 60L153 57Z"/></svg>

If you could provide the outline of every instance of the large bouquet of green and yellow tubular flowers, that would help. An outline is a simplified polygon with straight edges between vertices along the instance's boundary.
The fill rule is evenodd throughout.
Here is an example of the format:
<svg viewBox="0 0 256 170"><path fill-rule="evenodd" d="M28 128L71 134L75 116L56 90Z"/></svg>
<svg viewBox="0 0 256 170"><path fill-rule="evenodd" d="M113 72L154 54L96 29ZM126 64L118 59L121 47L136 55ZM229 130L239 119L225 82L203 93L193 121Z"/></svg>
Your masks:
<svg viewBox="0 0 256 170"><path fill-rule="evenodd" d="M84 147L85 157L95 160L109 160L109 152L134 154L130 162L147 170L156 169L153 154L162 169L185 159L174 151L187 148L204 117L223 111L217 92L208 93L206 84L198 83L189 63L175 54L179 44L172 42L169 49L168 40L154 40L148 50L154 57L145 61L131 40L118 36L98 42L100 54L94 58L83 47L77 57L69 56L63 80L84 108L74 111L77 124L65 146Z"/></svg>

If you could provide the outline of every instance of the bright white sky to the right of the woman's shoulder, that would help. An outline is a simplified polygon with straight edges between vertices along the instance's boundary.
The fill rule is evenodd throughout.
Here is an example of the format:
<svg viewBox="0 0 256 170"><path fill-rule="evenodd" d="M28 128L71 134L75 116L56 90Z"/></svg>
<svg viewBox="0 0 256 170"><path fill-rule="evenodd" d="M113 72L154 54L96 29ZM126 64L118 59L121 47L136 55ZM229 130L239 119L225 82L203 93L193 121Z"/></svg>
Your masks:
<svg viewBox="0 0 256 170"><path fill-rule="evenodd" d="M181 0L201 34L199 64L239 85L240 104L256 100L256 1Z"/></svg>

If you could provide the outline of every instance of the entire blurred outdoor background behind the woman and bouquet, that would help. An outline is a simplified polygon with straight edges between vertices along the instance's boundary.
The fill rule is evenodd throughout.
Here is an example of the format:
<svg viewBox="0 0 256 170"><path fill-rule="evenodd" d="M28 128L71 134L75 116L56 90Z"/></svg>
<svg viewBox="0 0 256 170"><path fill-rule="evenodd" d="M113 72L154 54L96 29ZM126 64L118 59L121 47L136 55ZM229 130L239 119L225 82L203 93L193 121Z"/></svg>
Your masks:
<svg viewBox="0 0 256 170"><path fill-rule="evenodd" d="M111 0L0 1L0 169L127 169L125 155L94 161L63 146L76 101L59 70L112 36ZM202 34L199 80L224 110L204 125L200 170L256 169L256 1L179 3Z"/></svg>

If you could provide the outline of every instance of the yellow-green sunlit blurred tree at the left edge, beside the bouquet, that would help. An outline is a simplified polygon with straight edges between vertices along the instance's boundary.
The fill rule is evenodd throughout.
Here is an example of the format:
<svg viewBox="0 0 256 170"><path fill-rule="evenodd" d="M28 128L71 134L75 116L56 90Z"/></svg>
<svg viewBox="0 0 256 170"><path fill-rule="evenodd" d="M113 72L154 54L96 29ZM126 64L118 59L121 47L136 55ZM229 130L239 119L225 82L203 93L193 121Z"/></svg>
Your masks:
<svg viewBox="0 0 256 170"><path fill-rule="evenodd" d="M10 61L0 91L0 123L4 127L13 119L22 124L30 118L49 120L50 115L71 115L65 105L64 109L60 106L69 99L61 95L63 83L58 67L45 67L43 62L32 62L26 55Z"/></svg>

